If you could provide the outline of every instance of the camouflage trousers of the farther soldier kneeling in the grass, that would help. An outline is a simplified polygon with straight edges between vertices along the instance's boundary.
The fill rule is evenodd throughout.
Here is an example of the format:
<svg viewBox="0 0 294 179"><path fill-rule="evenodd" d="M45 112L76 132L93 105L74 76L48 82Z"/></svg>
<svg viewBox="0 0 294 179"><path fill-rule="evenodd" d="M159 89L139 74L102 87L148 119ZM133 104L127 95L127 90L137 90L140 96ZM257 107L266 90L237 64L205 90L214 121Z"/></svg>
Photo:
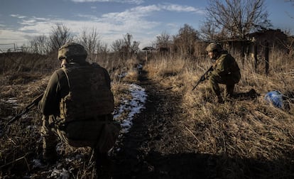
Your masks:
<svg viewBox="0 0 294 179"><path fill-rule="evenodd" d="M239 82L241 76L240 75L211 75L209 77L209 85L212 89L212 92L217 95L217 97L221 96L221 92L219 89L219 84L226 85L226 91L224 92L224 97L232 97L234 92L234 86Z"/></svg>

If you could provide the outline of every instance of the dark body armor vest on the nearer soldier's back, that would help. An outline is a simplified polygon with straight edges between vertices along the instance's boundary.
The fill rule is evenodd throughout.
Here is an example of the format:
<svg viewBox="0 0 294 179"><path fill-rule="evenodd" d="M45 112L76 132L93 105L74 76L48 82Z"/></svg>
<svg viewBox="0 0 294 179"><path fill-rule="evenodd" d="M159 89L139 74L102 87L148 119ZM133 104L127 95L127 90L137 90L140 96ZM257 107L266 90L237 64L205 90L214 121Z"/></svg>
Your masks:
<svg viewBox="0 0 294 179"><path fill-rule="evenodd" d="M99 65L62 67L70 92L60 101L60 119L65 123L95 119L114 111L114 97Z"/></svg>

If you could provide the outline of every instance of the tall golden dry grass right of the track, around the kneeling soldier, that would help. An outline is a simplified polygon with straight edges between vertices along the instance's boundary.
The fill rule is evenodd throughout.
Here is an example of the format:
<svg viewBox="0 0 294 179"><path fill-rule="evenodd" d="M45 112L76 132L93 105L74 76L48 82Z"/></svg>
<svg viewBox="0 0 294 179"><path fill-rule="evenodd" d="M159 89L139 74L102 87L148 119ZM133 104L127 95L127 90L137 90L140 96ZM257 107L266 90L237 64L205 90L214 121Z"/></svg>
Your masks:
<svg viewBox="0 0 294 179"><path fill-rule="evenodd" d="M192 86L210 65L207 59L151 60L145 68L160 85L183 96L185 117L179 127L193 139L187 147L198 153L222 156L217 161L222 177L248 177L244 170L251 166L246 166L246 161L266 163L254 166L261 178L276 178L277 173L283 173L282 178L294 177L290 167L294 157L293 59L278 52L271 53L269 74L265 75L265 68L261 66L264 63L256 70L250 58L245 59L244 64L239 56L235 58L242 76L235 92L255 89L260 94L258 97L216 104L207 82L192 91ZM224 90L224 85L220 87ZM290 110L277 109L265 102L264 94L271 90L288 97Z"/></svg>

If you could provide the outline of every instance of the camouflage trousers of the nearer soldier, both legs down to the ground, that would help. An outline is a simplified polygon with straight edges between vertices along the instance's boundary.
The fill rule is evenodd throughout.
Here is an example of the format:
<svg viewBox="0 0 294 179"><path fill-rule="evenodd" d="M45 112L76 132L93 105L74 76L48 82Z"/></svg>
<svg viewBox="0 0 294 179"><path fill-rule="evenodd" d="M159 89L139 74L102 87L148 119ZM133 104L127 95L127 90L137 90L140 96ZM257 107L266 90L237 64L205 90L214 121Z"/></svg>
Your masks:
<svg viewBox="0 0 294 179"><path fill-rule="evenodd" d="M107 156L107 152L101 152L99 147L97 147L96 141L99 138L97 131L100 131L102 128L101 121L112 119L112 114L107 114L101 118L97 118L97 120L77 121L67 125L67 131L70 132L70 130L72 130L72 132L70 132L72 135L68 135L65 131L60 130L59 127L55 125L55 116L43 116L43 125L40 130L40 134L43 137L43 150L55 150L58 143L58 137L62 142L67 143L69 146L91 146L93 149L97 173L99 175L110 175L108 172L109 170L111 171L112 166ZM73 127L70 127L71 125ZM72 141L69 137L72 139L78 138L78 140Z"/></svg>

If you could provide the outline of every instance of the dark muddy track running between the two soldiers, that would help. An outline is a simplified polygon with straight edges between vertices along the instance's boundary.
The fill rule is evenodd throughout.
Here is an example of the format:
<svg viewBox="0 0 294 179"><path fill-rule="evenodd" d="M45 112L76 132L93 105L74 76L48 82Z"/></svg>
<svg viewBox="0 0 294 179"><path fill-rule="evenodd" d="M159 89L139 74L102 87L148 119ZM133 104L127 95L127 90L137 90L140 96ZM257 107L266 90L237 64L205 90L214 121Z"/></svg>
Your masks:
<svg viewBox="0 0 294 179"><path fill-rule="evenodd" d="M187 148L191 139L183 136L178 124L183 120L180 94L139 78L148 94L146 109L134 116L134 124L124 136L114 156L114 178L209 178L208 155ZM190 141L187 141L190 140Z"/></svg>

